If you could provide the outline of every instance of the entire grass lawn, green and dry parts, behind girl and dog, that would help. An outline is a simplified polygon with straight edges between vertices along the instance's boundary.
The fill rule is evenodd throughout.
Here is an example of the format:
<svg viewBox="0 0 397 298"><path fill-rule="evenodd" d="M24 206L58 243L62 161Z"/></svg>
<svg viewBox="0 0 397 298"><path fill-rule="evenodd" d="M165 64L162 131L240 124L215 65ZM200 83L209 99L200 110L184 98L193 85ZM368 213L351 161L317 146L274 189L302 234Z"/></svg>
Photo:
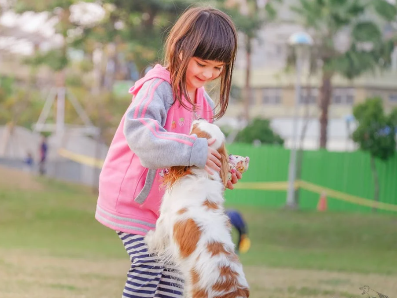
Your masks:
<svg viewBox="0 0 397 298"><path fill-rule="evenodd" d="M121 297L129 259L95 205L87 188L0 169L0 297ZM251 298L396 296L396 216L238 209Z"/></svg>

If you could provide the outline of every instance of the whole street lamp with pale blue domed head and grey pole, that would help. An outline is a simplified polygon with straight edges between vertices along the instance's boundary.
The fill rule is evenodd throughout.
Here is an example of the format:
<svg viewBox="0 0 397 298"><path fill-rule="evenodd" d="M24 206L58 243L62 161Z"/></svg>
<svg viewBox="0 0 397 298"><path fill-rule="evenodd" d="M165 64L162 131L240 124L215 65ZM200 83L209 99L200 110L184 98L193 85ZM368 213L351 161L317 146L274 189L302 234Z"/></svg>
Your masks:
<svg viewBox="0 0 397 298"><path fill-rule="evenodd" d="M298 135L298 107L301 96L300 77L302 73L302 64L307 56L306 52L313 45L312 37L306 32L297 32L292 34L288 39L289 45L295 50L296 56L296 83L295 83L295 104L294 117L292 127L292 144L288 166L288 191L287 191L287 207L296 208L295 202L295 178L296 178L296 139Z"/></svg>

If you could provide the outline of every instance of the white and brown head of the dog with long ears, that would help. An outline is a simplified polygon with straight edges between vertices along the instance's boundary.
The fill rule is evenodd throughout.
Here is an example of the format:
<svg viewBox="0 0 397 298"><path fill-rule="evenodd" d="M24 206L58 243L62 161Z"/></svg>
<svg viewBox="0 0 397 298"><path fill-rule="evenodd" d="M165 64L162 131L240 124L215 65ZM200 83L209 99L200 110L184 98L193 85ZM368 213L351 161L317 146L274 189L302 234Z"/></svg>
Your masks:
<svg viewBox="0 0 397 298"><path fill-rule="evenodd" d="M223 185L226 187L229 172L229 156L225 147L225 135L220 128L215 124L211 124L204 119L195 120L192 124L191 135L196 135L198 138L215 139L216 141L210 147L215 149L221 155L220 162L222 164L219 176ZM172 186L183 176L192 173L191 166L172 166L168 170L168 174L164 176L163 184Z"/></svg>

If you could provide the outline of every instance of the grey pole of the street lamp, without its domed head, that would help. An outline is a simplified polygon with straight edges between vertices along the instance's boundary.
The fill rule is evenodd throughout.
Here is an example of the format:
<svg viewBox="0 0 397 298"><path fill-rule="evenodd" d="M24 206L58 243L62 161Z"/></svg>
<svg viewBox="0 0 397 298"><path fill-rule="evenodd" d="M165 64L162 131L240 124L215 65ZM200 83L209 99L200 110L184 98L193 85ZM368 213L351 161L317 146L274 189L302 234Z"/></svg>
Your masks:
<svg viewBox="0 0 397 298"><path fill-rule="evenodd" d="M292 128L292 144L289 157L288 167L288 191L287 191L287 207L295 208L295 178L296 178L296 140L298 135L298 109L299 100L301 95L301 83L300 77L302 72L302 56L303 47L296 47L296 83L295 83L295 104L294 104L294 117L293 117L293 128Z"/></svg>

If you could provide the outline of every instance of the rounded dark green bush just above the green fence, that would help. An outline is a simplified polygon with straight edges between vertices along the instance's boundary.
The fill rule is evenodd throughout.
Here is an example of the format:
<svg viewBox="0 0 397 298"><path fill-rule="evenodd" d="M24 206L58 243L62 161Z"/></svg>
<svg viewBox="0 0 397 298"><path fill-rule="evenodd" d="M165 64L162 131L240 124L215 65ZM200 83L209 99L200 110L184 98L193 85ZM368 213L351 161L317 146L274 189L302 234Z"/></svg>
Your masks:
<svg viewBox="0 0 397 298"><path fill-rule="evenodd" d="M270 120L268 119L254 119L251 124L237 134L235 139L236 142L249 144L252 144L256 140L262 144L284 144L284 140L271 128Z"/></svg>

